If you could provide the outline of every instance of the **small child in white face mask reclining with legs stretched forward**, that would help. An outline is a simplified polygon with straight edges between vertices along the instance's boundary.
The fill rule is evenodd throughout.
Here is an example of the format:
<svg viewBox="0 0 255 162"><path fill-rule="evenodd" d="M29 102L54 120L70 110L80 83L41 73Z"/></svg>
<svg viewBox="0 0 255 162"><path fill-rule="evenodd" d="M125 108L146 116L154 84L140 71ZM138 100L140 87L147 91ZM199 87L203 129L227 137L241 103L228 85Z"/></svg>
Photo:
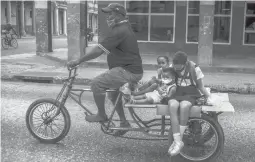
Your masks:
<svg viewBox="0 0 255 162"><path fill-rule="evenodd" d="M162 79L157 87L142 95L132 96L131 104L158 104L165 97L171 98L176 91L175 72L171 67L162 68Z"/></svg>

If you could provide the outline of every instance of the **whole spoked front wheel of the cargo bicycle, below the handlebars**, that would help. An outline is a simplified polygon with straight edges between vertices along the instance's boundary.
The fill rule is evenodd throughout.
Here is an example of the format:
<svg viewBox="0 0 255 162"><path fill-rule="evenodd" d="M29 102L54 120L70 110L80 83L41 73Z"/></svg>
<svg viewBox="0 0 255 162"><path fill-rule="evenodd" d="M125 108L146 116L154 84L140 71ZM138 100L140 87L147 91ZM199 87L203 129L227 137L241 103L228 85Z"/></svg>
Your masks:
<svg viewBox="0 0 255 162"><path fill-rule="evenodd" d="M70 130L71 120L67 109L63 106L60 113L55 115L60 102L44 98L33 102L26 112L26 125L34 138L43 143L57 143L62 140Z"/></svg>

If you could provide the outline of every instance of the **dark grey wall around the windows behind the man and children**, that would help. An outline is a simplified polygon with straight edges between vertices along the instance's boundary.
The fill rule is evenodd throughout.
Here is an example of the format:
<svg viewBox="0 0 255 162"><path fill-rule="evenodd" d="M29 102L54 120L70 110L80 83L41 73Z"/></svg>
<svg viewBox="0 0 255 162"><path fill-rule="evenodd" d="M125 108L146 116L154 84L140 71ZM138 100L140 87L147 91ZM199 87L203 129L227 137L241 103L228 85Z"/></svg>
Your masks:
<svg viewBox="0 0 255 162"><path fill-rule="evenodd" d="M112 1L99 1L98 3L98 27L99 41L106 35L109 28L106 24L105 15L101 8L107 6ZM115 1L116 2L116 1ZM118 1L124 4L123 1ZM197 55L198 44L186 43L186 1L176 2L176 18L175 18L175 42L174 43L152 43L140 42L139 49L142 54L168 54L178 50L187 52L189 55ZM232 1L232 31L231 45L214 44L213 55L252 55L255 57L255 46L243 45L243 24L244 24L244 1Z"/></svg>

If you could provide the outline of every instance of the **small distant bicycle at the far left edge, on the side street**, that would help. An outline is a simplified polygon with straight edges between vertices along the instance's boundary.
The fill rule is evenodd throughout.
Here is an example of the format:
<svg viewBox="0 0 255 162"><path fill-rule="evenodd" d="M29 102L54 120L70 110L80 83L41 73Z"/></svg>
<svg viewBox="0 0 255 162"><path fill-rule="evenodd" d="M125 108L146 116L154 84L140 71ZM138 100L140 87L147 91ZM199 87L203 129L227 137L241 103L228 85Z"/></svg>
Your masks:
<svg viewBox="0 0 255 162"><path fill-rule="evenodd" d="M17 35L10 33L6 30L2 31L1 43L3 49L8 49L9 47L18 48L18 41L15 38Z"/></svg>

